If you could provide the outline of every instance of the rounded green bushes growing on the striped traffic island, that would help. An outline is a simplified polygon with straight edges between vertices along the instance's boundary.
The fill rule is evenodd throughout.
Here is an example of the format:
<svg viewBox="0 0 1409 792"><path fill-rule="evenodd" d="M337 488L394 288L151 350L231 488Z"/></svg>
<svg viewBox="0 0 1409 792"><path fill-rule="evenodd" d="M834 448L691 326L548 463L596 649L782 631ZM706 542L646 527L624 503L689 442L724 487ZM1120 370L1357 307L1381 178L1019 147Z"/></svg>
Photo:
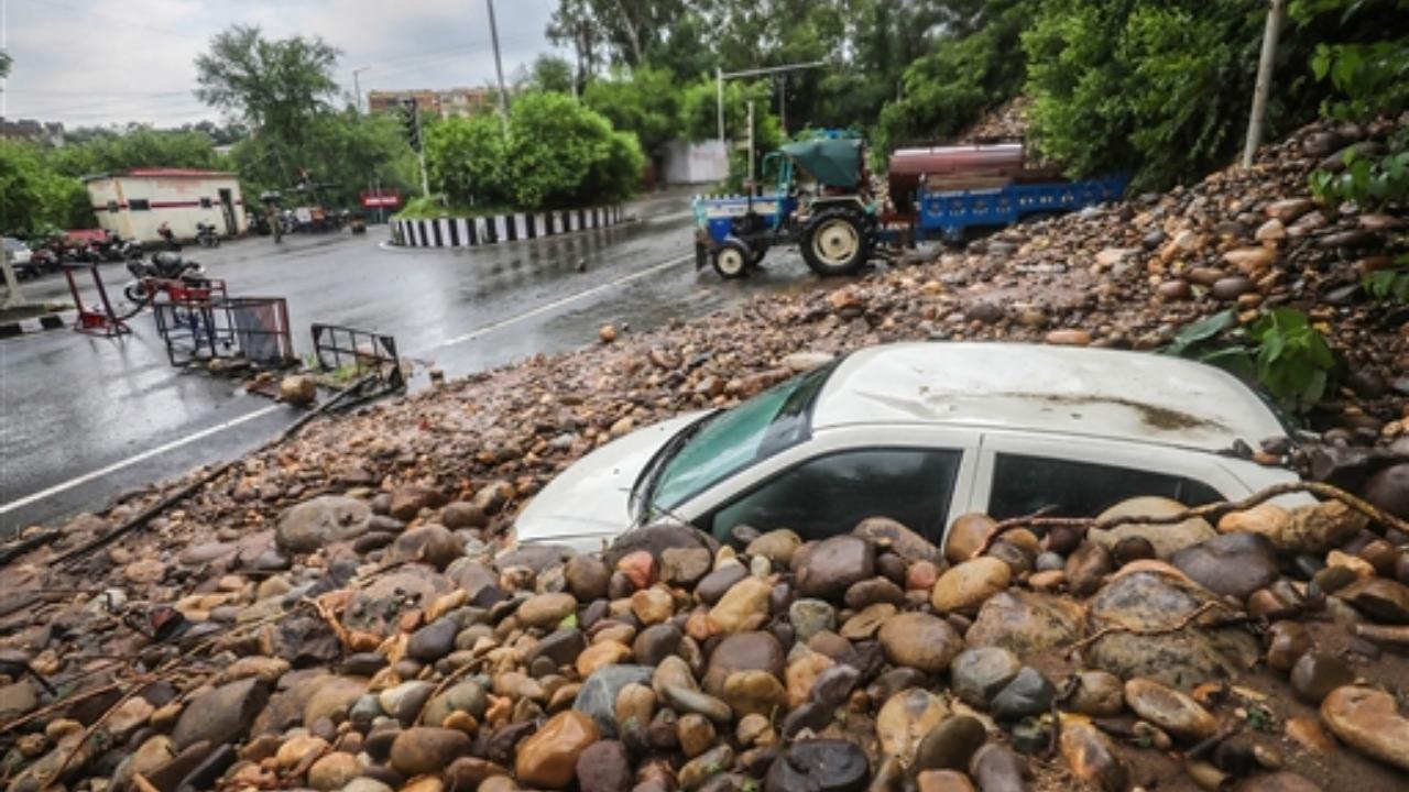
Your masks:
<svg viewBox="0 0 1409 792"><path fill-rule="evenodd" d="M519 209L621 200L645 165L634 135L561 93L517 97L507 132L493 116L437 121L426 159L447 200Z"/></svg>

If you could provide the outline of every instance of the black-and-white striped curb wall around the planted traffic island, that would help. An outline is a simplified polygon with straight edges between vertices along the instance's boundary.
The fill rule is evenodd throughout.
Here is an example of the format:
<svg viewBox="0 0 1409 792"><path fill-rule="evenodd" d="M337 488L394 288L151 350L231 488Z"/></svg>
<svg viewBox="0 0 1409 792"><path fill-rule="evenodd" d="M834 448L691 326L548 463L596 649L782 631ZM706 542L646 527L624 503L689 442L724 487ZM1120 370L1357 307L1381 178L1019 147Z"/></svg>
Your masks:
<svg viewBox="0 0 1409 792"><path fill-rule="evenodd" d="M392 244L407 248L473 248L607 228L626 220L627 214L620 206L535 213L516 211L483 217L393 220Z"/></svg>

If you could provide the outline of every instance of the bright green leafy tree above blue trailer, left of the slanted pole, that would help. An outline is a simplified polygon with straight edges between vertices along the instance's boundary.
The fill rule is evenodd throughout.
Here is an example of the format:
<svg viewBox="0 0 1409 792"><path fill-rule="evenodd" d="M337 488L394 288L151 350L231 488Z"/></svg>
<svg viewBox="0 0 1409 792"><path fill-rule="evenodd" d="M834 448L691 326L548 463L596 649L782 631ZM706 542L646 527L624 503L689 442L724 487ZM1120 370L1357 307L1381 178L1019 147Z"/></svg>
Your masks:
<svg viewBox="0 0 1409 792"><path fill-rule="evenodd" d="M1075 173L1165 187L1243 142L1265 3L1064 0L1023 35L1030 132Z"/></svg>

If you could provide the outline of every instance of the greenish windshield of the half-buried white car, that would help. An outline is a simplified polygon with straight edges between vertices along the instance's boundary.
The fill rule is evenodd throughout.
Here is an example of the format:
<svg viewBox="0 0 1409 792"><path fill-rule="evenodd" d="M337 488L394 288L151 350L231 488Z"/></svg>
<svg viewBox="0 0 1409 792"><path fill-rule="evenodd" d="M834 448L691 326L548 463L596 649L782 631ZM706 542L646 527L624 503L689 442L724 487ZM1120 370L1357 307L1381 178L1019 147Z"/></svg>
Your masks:
<svg viewBox="0 0 1409 792"><path fill-rule="evenodd" d="M806 440L812 404L831 369L830 365L813 369L697 424L693 437L661 461L651 488L652 510L669 512L738 471Z"/></svg>

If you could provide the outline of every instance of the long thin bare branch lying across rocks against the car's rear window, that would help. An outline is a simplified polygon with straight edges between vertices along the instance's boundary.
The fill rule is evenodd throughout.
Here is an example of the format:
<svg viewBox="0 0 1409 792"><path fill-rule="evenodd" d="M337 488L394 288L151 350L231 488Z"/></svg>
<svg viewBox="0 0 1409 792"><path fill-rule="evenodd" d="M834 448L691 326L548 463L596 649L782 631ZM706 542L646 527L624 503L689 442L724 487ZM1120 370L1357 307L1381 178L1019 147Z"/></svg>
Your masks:
<svg viewBox="0 0 1409 792"><path fill-rule="evenodd" d="M983 543L979 544L978 550L974 551L972 558L978 558L992 550L993 543L998 541L1000 536L1016 528L1075 528L1085 536L1089 531L1105 531L1117 526L1172 526L1185 520L1212 519L1227 512L1243 512L1274 497L1299 492L1315 495L1323 500L1339 500L1350 509L1360 512L1374 523L1409 533L1409 520L1401 520L1399 517L1384 512L1375 505L1357 497L1339 486L1332 486L1323 482L1286 482L1254 492L1241 500L1205 503L1203 506L1185 509L1184 512L1178 512L1175 514L1123 514L1119 517L1096 520L1095 517L1044 517L1041 516L1041 512L1038 512L1037 514L1027 517L1013 517L999 523L983 538Z"/></svg>

